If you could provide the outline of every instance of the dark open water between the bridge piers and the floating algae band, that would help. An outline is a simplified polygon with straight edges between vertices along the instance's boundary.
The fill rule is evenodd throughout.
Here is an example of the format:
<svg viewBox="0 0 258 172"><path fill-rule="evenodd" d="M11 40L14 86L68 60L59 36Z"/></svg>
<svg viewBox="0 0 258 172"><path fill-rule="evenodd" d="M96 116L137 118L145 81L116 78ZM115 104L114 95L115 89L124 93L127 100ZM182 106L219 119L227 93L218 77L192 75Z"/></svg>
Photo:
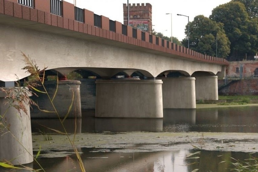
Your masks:
<svg viewBox="0 0 258 172"><path fill-rule="evenodd" d="M83 111L76 132L258 132L258 106L164 109L163 113L163 119L133 119L95 118L94 110ZM58 119L31 119L32 132L44 131L41 125L62 130ZM74 119L66 119L65 126L74 132Z"/></svg>

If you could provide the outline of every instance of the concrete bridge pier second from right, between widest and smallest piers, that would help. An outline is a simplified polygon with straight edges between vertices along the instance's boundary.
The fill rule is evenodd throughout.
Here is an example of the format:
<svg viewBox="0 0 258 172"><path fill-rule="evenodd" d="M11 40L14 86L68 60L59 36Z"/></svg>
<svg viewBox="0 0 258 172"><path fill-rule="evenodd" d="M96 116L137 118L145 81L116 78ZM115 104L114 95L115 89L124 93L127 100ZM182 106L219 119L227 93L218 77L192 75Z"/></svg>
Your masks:
<svg viewBox="0 0 258 172"><path fill-rule="evenodd" d="M162 78L163 108L196 108L195 78Z"/></svg>

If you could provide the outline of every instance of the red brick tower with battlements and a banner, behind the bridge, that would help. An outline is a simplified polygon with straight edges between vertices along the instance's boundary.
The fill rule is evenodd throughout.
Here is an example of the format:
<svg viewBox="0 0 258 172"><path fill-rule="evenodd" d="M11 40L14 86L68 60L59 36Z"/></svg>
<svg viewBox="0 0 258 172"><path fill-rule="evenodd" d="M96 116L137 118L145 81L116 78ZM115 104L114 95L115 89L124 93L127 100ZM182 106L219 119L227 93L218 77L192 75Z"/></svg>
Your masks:
<svg viewBox="0 0 258 172"><path fill-rule="evenodd" d="M127 25L127 4L123 4L124 8L124 25ZM152 22L151 22L151 12L152 6L149 3L140 4L129 4L129 25L141 29L144 32L151 33Z"/></svg>

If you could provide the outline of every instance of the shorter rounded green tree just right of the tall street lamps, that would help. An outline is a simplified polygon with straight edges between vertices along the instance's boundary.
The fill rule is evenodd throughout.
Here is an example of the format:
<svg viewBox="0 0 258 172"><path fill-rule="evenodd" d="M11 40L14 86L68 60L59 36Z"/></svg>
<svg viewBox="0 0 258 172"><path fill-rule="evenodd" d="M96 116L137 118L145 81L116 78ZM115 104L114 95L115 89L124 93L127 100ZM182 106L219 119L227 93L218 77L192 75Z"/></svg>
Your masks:
<svg viewBox="0 0 258 172"><path fill-rule="evenodd" d="M226 58L230 53L230 42L223 30L222 23L216 23L204 15L197 15L193 22L189 22L190 49L197 52ZM188 34L188 24L185 29ZM188 38L182 40L184 46L188 46ZM217 50L217 53L216 53Z"/></svg>

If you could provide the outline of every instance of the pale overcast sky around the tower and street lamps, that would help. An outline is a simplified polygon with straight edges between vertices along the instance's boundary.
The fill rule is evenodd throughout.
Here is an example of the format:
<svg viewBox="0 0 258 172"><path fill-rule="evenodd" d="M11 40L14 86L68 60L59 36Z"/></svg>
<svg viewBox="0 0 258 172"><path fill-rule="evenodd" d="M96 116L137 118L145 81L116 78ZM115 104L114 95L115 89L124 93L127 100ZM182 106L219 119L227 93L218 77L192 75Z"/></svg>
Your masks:
<svg viewBox="0 0 258 172"><path fill-rule="evenodd" d="M76 6L88 9L95 14L104 15L111 20L123 23L123 4L127 0L65 0L70 3L76 1ZM188 18L177 14L189 16L189 22L193 21L196 15L209 17L214 8L230 0L129 0L133 3L150 3L152 5L152 29L161 32L165 36L171 36L171 15L172 13L172 35L182 40ZM166 31L167 30L167 31Z"/></svg>

